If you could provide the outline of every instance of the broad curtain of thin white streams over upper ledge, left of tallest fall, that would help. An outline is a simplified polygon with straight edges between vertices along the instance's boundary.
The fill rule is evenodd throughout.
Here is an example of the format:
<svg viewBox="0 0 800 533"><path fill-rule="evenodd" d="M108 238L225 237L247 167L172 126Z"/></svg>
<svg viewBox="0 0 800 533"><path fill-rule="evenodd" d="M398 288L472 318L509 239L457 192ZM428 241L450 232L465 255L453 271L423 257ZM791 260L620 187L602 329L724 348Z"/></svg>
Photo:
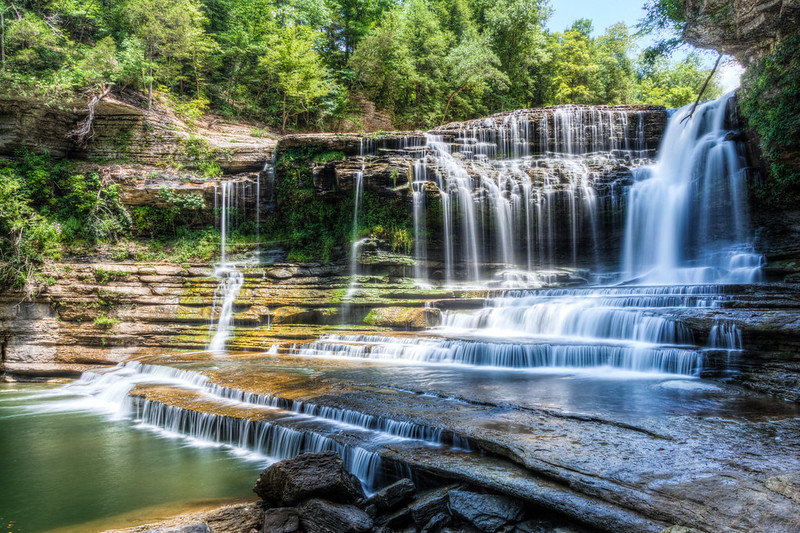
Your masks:
<svg viewBox="0 0 800 533"><path fill-rule="evenodd" d="M426 134L411 184L417 280L426 279L422 265L429 259L427 183L439 189L447 284L480 281L490 265L598 268L598 241L607 228L595 188L606 180L614 186L615 167L648 162L645 112L560 106L536 120L518 111Z"/></svg>

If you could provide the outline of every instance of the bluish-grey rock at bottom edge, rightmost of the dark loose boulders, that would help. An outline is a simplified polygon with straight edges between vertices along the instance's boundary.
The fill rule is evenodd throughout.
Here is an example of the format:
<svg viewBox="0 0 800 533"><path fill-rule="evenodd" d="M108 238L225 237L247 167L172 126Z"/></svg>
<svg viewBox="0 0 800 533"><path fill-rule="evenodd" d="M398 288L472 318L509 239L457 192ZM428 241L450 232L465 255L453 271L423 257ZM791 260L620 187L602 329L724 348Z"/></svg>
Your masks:
<svg viewBox="0 0 800 533"><path fill-rule="evenodd" d="M450 510L453 515L487 533L517 522L523 516L522 503L518 500L463 490L450 492Z"/></svg>

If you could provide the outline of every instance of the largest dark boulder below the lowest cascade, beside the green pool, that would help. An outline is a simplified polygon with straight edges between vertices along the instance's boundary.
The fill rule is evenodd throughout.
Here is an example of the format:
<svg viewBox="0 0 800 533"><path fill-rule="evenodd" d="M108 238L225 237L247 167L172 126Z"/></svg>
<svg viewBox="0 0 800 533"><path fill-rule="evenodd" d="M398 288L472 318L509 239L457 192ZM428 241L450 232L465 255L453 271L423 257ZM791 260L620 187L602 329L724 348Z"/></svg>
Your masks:
<svg viewBox="0 0 800 533"><path fill-rule="evenodd" d="M364 499L364 490L344 469L335 452L305 453L278 461L258 477L253 491L264 501L287 506L309 498L353 503Z"/></svg>

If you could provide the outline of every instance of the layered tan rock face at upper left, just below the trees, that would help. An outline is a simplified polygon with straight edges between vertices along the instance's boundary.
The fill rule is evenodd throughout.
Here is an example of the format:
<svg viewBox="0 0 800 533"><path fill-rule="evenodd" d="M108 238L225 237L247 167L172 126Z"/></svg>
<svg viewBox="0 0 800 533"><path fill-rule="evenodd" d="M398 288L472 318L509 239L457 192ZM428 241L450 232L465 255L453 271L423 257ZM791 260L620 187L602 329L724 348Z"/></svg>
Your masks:
<svg viewBox="0 0 800 533"><path fill-rule="evenodd" d="M147 110L111 97L95 107L93 135L86 144L69 136L86 116L86 102L61 108L22 97L0 100L0 155L20 149L57 158L126 160L153 168L174 162L188 169L214 161L226 174L259 171L276 141L253 137L242 126L198 126L194 131L166 108Z"/></svg>

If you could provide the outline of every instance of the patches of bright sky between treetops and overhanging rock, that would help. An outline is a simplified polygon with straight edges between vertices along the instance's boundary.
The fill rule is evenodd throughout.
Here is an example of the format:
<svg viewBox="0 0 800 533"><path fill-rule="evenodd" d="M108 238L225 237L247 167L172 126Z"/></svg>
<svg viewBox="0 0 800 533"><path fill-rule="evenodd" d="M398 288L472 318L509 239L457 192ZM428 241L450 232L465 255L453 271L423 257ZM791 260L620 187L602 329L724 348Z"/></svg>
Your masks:
<svg viewBox="0 0 800 533"><path fill-rule="evenodd" d="M601 35L606 28L617 22L624 22L633 29L639 20L644 17L643 6L645 0L550 0L553 14L547 21L547 29L552 32L564 31L579 18L592 21L594 35ZM647 37L640 40L640 46L649 44ZM686 54L690 48L677 54ZM701 53L701 57L708 68L714 65L717 55L715 52ZM717 72L717 81L722 85L723 91L728 92L739 86L739 77L742 68L735 62L723 62Z"/></svg>

